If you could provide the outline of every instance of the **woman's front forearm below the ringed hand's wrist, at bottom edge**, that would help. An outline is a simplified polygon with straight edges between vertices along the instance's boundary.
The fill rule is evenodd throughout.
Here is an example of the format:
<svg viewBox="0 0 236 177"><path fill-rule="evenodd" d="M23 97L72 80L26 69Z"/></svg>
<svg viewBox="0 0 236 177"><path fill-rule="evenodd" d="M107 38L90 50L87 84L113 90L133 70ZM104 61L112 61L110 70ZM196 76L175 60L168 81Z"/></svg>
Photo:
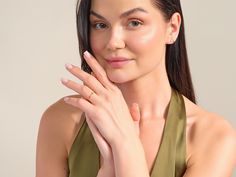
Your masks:
<svg viewBox="0 0 236 177"><path fill-rule="evenodd" d="M141 142L121 142L112 149L116 177L150 177Z"/></svg>

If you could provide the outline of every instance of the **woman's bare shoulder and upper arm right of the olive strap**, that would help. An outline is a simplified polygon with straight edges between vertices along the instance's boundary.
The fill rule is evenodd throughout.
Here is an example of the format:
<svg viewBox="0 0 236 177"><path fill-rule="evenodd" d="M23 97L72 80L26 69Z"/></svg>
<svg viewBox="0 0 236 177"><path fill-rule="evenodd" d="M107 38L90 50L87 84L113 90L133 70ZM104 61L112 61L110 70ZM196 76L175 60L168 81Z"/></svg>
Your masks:
<svg viewBox="0 0 236 177"><path fill-rule="evenodd" d="M213 176L213 173L230 176L236 165L235 129L224 117L204 110L187 98L184 99L187 114L188 167L194 171L203 169L206 165L208 168L204 169L204 173L209 176ZM212 172L213 169L216 169L215 172ZM200 172L198 173L200 175Z"/></svg>

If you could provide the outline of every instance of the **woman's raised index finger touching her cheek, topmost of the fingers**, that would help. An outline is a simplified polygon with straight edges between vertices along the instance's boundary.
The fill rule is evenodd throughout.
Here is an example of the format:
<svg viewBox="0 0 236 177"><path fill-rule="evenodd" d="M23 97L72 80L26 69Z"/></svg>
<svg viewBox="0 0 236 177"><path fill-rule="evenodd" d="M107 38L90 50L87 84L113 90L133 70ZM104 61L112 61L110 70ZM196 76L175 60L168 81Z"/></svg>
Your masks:
<svg viewBox="0 0 236 177"><path fill-rule="evenodd" d="M88 51L84 52L84 59L105 88L114 88L114 84L108 79L106 71Z"/></svg>

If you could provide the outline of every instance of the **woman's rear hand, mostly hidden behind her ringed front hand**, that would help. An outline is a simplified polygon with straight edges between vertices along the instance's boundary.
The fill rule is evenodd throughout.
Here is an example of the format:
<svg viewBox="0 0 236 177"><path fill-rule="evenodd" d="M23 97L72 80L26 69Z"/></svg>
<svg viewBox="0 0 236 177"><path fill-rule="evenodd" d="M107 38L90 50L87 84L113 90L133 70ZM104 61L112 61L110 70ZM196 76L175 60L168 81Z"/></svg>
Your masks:
<svg viewBox="0 0 236 177"><path fill-rule="evenodd" d="M130 114L134 121L134 126L139 136L139 121L140 121L140 110L139 106L136 103L133 103L130 107ZM112 149L107 141L101 136L98 129L95 127L93 122L89 117L86 115L86 121L88 126L92 132L94 140L99 148L101 153L101 167L99 169L97 177L115 177L115 167L114 167L114 160L112 155Z"/></svg>

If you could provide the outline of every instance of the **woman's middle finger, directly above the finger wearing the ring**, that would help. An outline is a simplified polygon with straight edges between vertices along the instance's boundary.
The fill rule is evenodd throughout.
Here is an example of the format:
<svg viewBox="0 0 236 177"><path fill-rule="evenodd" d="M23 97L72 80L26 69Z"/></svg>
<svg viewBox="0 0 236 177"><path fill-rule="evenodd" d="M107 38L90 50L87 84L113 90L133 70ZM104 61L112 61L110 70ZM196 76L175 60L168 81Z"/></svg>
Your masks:
<svg viewBox="0 0 236 177"><path fill-rule="evenodd" d="M71 74L79 78L95 93L99 94L105 92L103 85L94 76L88 74L87 72L72 64L66 64L65 67Z"/></svg>

